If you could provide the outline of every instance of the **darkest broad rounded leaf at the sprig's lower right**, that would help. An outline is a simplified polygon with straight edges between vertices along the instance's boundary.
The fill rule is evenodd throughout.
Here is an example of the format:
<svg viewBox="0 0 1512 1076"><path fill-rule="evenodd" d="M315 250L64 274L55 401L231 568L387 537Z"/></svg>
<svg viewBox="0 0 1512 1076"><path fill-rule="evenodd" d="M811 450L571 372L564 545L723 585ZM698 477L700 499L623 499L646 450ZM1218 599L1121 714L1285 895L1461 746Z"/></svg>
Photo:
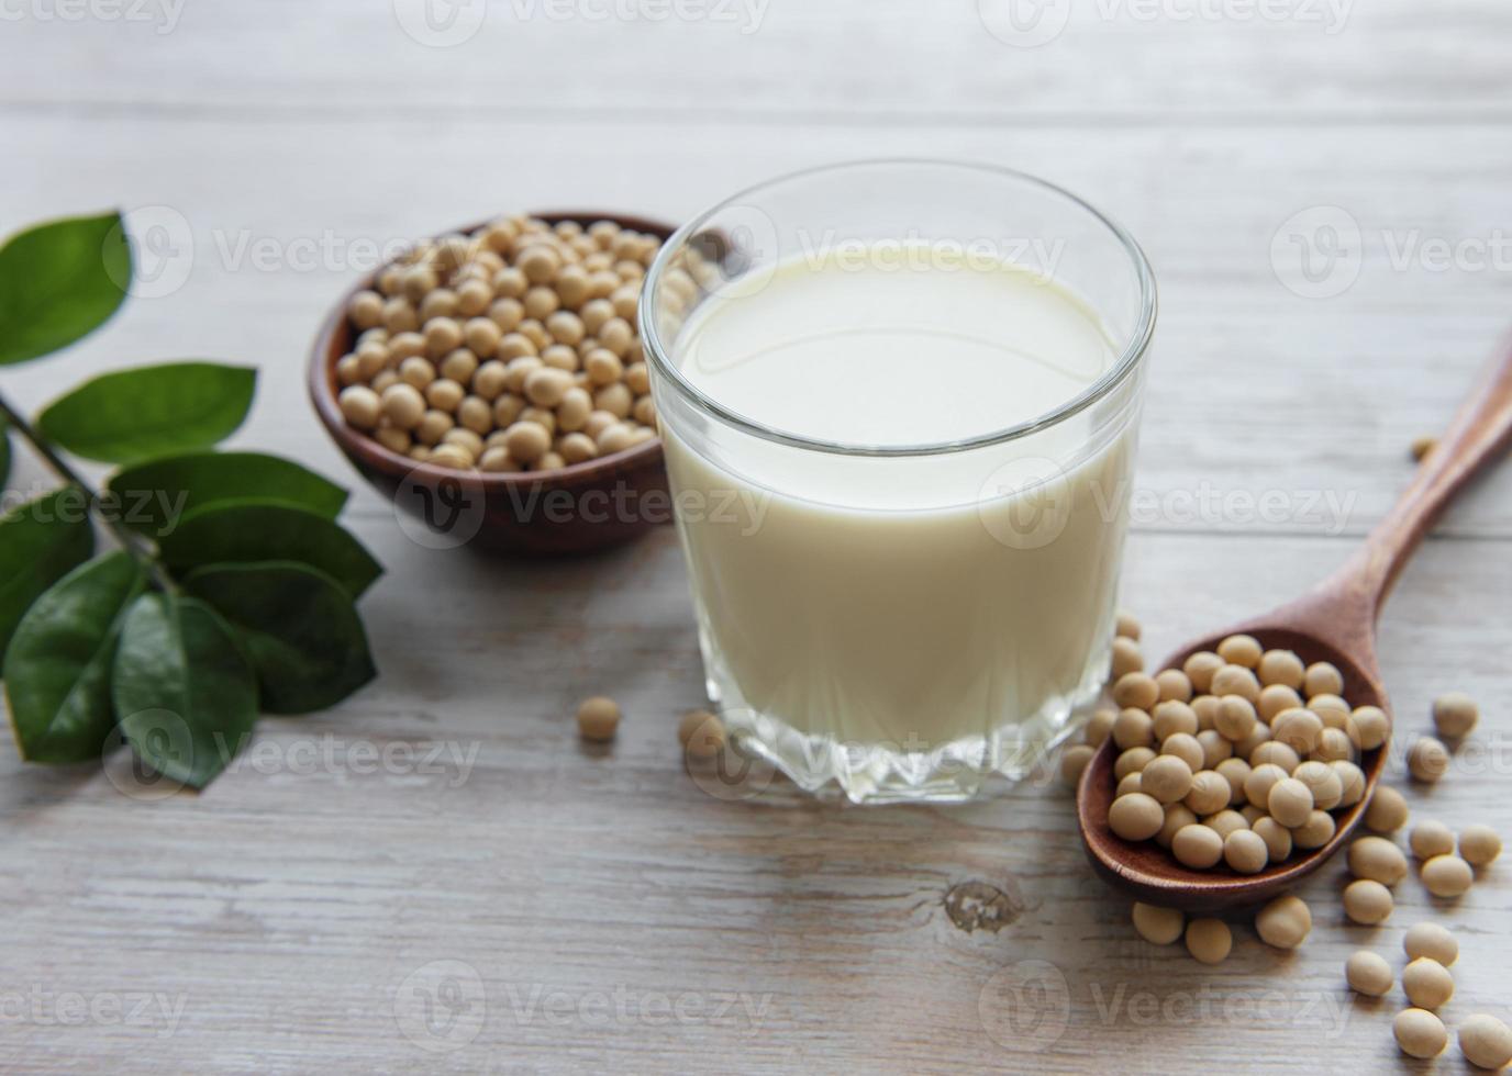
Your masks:
<svg viewBox="0 0 1512 1076"><path fill-rule="evenodd" d="M324 710L378 674L357 606L324 571L293 561L212 564L184 589L225 617L269 713Z"/></svg>

